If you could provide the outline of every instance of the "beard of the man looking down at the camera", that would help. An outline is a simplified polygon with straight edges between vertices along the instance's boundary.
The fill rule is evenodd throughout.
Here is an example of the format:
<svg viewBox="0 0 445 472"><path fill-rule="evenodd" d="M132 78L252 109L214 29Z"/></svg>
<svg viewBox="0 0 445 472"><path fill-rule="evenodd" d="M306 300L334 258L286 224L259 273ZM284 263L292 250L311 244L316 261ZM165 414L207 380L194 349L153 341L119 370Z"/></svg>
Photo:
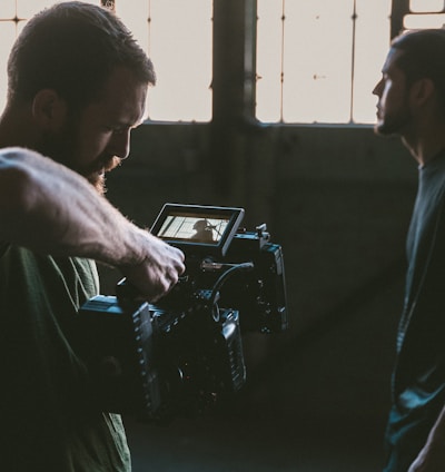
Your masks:
<svg viewBox="0 0 445 472"><path fill-rule="evenodd" d="M42 137L37 150L43 156L50 157L59 164L69 167L71 170L83 176L100 195L107 191L105 173L112 170L120 165L120 160L116 156L101 155L98 156L90 165L86 167L79 166L76 161L78 151L76 127L57 134L47 134ZM75 129L72 129L75 128Z"/></svg>

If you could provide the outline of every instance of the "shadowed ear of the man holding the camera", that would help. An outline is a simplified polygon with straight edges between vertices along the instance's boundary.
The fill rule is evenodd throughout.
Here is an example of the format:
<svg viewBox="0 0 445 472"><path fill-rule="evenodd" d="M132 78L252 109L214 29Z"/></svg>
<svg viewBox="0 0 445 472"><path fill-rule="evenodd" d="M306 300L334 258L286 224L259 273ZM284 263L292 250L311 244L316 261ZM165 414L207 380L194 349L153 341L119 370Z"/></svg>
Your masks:
<svg viewBox="0 0 445 472"><path fill-rule="evenodd" d="M67 102L56 90L39 90L32 100L32 116L42 130L57 131L65 124Z"/></svg>

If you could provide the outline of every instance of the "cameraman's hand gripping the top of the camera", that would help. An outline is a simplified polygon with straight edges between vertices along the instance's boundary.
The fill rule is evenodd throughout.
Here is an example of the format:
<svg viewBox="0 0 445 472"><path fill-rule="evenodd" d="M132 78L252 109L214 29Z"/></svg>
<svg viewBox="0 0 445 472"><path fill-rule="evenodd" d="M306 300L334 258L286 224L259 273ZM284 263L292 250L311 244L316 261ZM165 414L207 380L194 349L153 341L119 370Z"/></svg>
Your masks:
<svg viewBox="0 0 445 472"><path fill-rule="evenodd" d="M184 253L145 233L144 259L120 269L144 298L156 302L176 285L184 273Z"/></svg>

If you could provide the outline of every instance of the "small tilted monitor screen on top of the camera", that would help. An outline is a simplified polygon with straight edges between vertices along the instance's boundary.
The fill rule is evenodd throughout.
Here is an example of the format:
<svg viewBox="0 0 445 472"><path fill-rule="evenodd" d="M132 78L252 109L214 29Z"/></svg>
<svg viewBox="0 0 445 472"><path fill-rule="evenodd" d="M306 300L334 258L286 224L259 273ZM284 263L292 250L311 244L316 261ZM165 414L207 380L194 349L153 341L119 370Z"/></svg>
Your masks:
<svg viewBox="0 0 445 472"><path fill-rule="evenodd" d="M224 256L243 217L243 208L166 204L151 233L186 254Z"/></svg>

